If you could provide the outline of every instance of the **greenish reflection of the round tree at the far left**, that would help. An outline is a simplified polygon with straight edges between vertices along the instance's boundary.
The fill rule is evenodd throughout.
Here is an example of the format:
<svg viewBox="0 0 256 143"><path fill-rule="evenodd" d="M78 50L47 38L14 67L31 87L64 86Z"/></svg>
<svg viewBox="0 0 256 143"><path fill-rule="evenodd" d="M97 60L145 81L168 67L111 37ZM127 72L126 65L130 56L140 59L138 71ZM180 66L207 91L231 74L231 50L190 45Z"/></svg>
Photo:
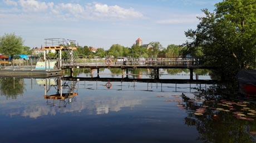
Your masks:
<svg viewBox="0 0 256 143"><path fill-rule="evenodd" d="M0 79L1 95L7 99L16 99L24 92L24 79L22 78L2 78Z"/></svg>

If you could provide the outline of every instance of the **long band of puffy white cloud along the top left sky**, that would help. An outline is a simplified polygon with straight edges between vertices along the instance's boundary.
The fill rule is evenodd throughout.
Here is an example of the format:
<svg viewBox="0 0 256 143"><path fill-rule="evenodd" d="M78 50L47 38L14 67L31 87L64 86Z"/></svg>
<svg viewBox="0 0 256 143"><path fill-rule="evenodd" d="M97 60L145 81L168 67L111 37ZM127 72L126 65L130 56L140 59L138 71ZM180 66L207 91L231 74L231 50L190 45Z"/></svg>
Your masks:
<svg viewBox="0 0 256 143"><path fill-rule="evenodd" d="M12 12L11 8L6 9L7 15L19 14L23 12L22 16L35 15L36 17L49 17L52 19L58 18L63 21L68 20L83 20L93 19L110 21L115 19L137 19L142 18L143 14L135 11L133 8L123 8L117 5L108 6L107 4L100 3L88 3L82 6L78 3L53 3L53 2L41 2L37 0L19 0L14 2L11 0L5 0L6 4L16 6L20 12ZM33 19L29 19L32 21Z"/></svg>

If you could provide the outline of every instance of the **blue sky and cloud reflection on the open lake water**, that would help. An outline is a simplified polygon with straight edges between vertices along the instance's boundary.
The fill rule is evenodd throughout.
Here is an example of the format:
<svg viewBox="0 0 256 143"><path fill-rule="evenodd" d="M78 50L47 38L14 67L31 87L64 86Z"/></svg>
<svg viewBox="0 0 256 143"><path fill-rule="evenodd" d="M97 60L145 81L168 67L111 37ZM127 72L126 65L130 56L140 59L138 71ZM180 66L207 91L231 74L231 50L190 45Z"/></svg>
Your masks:
<svg viewBox="0 0 256 143"><path fill-rule="evenodd" d="M6 136L0 142L198 142L195 127L184 124L186 111L156 96L199 85L111 82L106 89L105 82L79 81L78 95L57 108L47 105L36 79L24 83L17 99L0 96L0 134ZM53 86L50 94L56 94Z"/></svg>

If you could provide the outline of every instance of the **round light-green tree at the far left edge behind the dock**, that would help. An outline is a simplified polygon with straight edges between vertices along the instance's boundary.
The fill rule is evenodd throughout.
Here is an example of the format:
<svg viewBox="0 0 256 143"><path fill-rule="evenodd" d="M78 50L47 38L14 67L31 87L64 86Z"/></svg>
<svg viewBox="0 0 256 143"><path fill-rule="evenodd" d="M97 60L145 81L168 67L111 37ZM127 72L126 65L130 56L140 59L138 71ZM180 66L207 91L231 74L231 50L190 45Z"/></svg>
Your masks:
<svg viewBox="0 0 256 143"><path fill-rule="evenodd" d="M23 51L23 40L21 37L12 34L4 34L0 37L0 53L13 57Z"/></svg>

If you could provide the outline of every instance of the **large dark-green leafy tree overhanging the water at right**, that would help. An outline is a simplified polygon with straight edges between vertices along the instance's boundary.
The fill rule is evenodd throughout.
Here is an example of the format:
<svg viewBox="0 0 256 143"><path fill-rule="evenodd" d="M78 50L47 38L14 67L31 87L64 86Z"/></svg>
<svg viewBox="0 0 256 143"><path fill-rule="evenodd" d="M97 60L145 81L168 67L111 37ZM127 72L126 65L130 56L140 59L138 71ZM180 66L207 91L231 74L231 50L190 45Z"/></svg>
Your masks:
<svg viewBox="0 0 256 143"><path fill-rule="evenodd" d="M224 0L215 4L215 13L203 9L196 30L185 32L191 42L188 51L201 48L205 63L216 65L222 74L256 67L256 1ZM228 77L228 76L227 76Z"/></svg>

